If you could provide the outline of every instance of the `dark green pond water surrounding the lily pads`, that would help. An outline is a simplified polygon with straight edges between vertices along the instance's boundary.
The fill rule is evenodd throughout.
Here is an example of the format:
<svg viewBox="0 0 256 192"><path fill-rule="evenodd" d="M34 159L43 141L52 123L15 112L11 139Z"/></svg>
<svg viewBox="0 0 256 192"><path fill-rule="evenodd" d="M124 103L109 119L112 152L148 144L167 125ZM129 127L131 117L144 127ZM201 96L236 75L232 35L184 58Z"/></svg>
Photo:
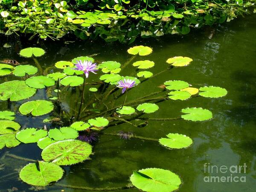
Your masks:
<svg viewBox="0 0 256 192"><path fill-rule="evenodd" d="M143 137L159 139L169 133L185 134L192 138L193 144L189 148L169 150L158 142L131 138L122 140L111 135L102 135L93 148L91 160L73 166L64 166L64 177L57 182L43 188L35 188L23 183L18 178L20 168L28 161L19 160L6 155L15 154L21 157L41 160L41 149L35 143L20 144L11 149L0 150L0 163L5 163L5 169L0 168L0 191L16 187L19 191L49 191L80 192L84 189L71 189L59 185L85 186L91 188L122 187L129 183L133 170L145 168L161 168L175 172L182 179L180 192L253 192L256 189L256 15L239 18L230 23L218 26L212 38L208 38L211 29L192 32L180 37L176 35L164 36L160 39L143 39L135 45L149 46L153 49L146 59L155 62L150 69L158 73L168 66L166 59L173 56L187 56L193 62L186 67L168 70L157 78L149 79L129 92L127 102L140 98L145 93L159 91L158 87L167 80L183 80L193 87L219 86L226 88L227 96L217 99L193 97L186 101L166 100L159 102L160 109L152 114L144 115L152 118L175 118L181 115L181 109L186 107L202 107L213 113L213 119L205 122L190 122L183 119L172 121L150 121L143 128L136 128L128 123L111 126L106 132L118 133L131 131ZM0 39L1 47L6 38ZM15 42L15 44L14 44ZM134 46L124 44L106 44L102 41L76 41L64 44L61 42L45 42L40 45L31 45L26 41L11 41L9 49L1 48L0 60L12 58L20 63L34 64L32 59L21 58L17 53L20 48L37 46L44 48L47 53L38 58L43 70L52 67L57 61L69 61L82 55L92 55L96 61L118 61L125 63L131 55L127 49ZM135 58L134 61L139 60ZM122 75L136 75L135 67L128 65ZM54 70L49 68L49 73ZM90 75L88 81L93 81L100 74ZM20 79L15 77L1 78L0 83L6 80ZM29 100L47 99L47 90L39 90ZM73 89L65 91L65 102L62 107L67 111L78 108L79 93ZM85 98L90 98L89 92ZM113 98L111 98L113 99ZM106 103L111 102L109 99ZM124 96L116 100L121 104ZM17 111L24 101L0 102L0 111ZM16 121L26 127L43 127L44 118L22 116L17 114ZM55 125L47 124L53 128ZM212 174L204 173L204 164L230 166L244 165L246 173L221 173L216 169ZM245 176L246 182L205 182L204 177L213 176ZM90 190L88 190L90 191ZM139 189L131 188L123 191L136 192Z"/></svg>

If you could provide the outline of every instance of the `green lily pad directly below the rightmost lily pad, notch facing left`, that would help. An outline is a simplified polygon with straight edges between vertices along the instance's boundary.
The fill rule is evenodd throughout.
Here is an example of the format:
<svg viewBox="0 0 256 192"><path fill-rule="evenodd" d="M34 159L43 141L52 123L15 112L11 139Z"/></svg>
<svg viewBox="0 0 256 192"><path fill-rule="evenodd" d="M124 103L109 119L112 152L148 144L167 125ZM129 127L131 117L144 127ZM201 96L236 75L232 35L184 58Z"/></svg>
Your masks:
<svg viewBox="0 0 256 192"><path fill-rule="evenodd" d="M182 113L188 113L182 115L181 118L190 121L205 121L212 119L212 112L203 108L186 108L181 110Z"/></svg>

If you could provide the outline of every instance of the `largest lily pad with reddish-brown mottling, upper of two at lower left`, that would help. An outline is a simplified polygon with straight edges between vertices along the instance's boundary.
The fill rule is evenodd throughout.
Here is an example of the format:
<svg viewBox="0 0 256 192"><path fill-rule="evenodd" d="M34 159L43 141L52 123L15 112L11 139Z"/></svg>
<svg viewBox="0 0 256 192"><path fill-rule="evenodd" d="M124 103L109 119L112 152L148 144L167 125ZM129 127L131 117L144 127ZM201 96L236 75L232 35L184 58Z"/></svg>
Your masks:
<svg viewBox="0 0 256 192"><path fill-rule="evenodd" d="M42 151L42 158L57 165L72 165L87 160L92 146L80 140L63 140L48 145Z"/></svg>

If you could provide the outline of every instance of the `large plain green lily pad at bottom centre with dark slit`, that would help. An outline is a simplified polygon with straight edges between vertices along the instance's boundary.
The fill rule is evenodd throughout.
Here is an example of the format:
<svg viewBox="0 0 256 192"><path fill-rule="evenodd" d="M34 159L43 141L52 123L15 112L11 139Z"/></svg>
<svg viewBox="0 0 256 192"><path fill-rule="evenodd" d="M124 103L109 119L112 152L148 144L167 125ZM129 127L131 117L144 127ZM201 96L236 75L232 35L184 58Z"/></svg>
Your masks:
<svg viewBox="0 0 256 192"><path fill-rule="evenodd" d="M146 192L172 192L179 188L180 177L169 170L148 168L134 171L131 183Z"/></svg>

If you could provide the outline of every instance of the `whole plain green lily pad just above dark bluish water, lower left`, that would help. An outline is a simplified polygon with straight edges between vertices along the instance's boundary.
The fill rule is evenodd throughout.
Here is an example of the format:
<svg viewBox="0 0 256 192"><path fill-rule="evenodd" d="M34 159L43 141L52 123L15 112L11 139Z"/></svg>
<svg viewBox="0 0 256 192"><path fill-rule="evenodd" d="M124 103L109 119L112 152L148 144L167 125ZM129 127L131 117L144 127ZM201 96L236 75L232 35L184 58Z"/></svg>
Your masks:
<svg viewBox="0 0 256 192"><path fill-rule="evenodd" d="M22 143L36 143L39 139L47 136L44 129L26 128L16 134L16 139Z"/></svg>

